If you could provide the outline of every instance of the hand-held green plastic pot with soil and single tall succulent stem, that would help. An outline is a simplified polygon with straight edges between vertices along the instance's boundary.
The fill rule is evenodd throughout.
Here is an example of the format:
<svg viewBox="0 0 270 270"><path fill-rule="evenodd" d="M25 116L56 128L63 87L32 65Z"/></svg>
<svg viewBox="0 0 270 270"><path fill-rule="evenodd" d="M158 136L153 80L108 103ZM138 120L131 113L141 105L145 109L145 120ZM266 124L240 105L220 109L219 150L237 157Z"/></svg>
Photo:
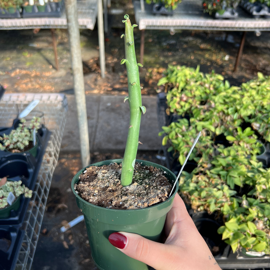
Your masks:
<svg viewBox="0 0 270 270"><path fill-rule="evenodd" d="M92 257L98 267L146 270L146 264L113 247L108 237L122 230L161 241L165 218L172 207L178 185L168 198L175 175L158 164L136 162L140 118L146 109L141 103L139 66L142 65L137 64L134 49L133 28L137 25L131 25L128 15L124 18L125 34L122 37L125 40L126 59L121 64L125 63L127 67L129 96L125 101L130 105L124 159L104 161L82 169L72 179L71 188L84 213ZM146 193L152 196L147 198Z"/></svg>

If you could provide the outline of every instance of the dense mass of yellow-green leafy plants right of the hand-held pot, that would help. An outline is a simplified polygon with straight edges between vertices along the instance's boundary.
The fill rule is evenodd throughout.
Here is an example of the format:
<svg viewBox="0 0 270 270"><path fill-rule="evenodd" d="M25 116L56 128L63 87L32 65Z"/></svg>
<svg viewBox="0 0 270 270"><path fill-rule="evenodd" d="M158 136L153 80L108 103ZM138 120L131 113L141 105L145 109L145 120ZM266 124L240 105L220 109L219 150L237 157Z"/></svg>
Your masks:
<svg viewBox="0 0 270 270"><path fill-rule="evenodd" d="M159 135L180 164L202 132L189 158L198 167L180 178L185 203L195 212L223 215L218 233L234 252L244 248L269 254L270 169L256 160L264 151L258 139L270 141L269 76L258 73L234 87L213 71L169 66L159 81L164 84L169 89L166 112L181 119Z"/></svg>

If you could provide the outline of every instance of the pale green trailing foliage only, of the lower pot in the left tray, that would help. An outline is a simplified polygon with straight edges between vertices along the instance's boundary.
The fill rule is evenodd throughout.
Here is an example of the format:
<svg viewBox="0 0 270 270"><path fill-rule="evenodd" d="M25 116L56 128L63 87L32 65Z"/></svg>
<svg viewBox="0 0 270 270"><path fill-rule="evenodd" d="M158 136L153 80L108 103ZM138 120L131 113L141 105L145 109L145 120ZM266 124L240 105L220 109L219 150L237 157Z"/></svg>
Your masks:
<svg viewBox="0 0 270 270"><path fill-rule="evenodd" d="M25 198L32 197L32 190L23 185L21 180L8 180L4 185L0 186L0 209L8 206L8 196L10 192L12 192L16 198L18 198L20 195L24 195Z"/></svg>

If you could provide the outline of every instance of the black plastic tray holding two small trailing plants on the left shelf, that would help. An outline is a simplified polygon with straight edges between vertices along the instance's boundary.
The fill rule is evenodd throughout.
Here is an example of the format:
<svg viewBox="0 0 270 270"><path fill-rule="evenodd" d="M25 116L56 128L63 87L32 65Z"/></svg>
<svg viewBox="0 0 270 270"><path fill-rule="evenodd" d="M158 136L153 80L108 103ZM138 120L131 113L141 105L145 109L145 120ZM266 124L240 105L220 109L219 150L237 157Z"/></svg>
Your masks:
<svg viewBox="0 0 270 270"><path fill-rule="evenodd" d="M0 134L4 131L9 134L10 129L18 125L15 120L12 128L0 128ZM38 172L43 161L43 156L47 147L51 132L44 126L37 131L38 146L37 155L34 158L30 153L9 153L0 151L0 178L9 176L16 181L21 180L29 189L33 189L37 180ZM1 225L14 225L20 227L24 220L30 199L21 196L21 205L17 211L12 210L9 218L0 218Z"/></svg>

